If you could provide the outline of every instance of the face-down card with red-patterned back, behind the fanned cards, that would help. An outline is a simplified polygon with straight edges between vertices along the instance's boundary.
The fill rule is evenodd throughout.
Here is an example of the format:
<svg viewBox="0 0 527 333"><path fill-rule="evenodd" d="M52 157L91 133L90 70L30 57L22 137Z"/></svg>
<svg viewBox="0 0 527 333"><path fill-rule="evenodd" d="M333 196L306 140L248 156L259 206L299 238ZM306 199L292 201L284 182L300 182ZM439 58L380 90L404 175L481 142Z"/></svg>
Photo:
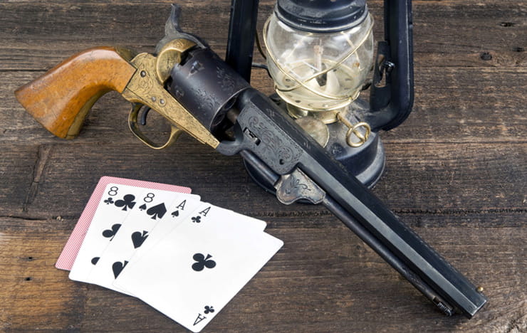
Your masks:
<svg viewBox="0 0 527 333"><path fill-rule="evenodd" d="M75 261L75 258L77 258L80 245L83 243L84 237L88 232L88 228L90 227L90 223L93 220L95 211L97 211L99 204L103 202L103 195L107 193L107 191L105 191L106 186L110 183L115 184L115 186L135 186L150 189L160 189L165 191L174 191L186 194L189 194L191 191L188 187L183 186L103 176L99 180L97 186L95 187L93 194L90 196L90 200L85 206L83 213L80 215L80 218L77 224L75 225L75 228L73 228L73 232L71 233L70 238L68 238L68 242L64 246L61 255L58 257L57 263L55 265L56 268L61 270L71 270L71 268L73 267L73 262Z"/></svg>

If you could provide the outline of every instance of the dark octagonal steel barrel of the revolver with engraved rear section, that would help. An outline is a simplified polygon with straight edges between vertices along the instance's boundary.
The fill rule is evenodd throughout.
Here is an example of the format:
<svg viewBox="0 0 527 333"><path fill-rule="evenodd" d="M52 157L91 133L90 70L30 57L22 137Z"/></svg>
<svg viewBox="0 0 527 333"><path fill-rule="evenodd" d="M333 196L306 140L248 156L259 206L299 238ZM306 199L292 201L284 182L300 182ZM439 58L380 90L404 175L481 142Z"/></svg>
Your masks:
<svg viewBox="0 0 527 333"><path fill-rule="evenodd" d="M271 100L256 90L247 90L240 103L243 107L236 127L243 138L221 142L220 152L232 154L243 149L255 154L281 178L295 177L288 182L293 187L286 189L290 192L309 189L309 182L313 181L324 192L318 202L335 213L443 312L450 314L456 309L472 317L486 303L486 297L476 286L402 223ZM297 169L305 176L296 174ZM302 199L307 196L301 194Z"/></svg>

